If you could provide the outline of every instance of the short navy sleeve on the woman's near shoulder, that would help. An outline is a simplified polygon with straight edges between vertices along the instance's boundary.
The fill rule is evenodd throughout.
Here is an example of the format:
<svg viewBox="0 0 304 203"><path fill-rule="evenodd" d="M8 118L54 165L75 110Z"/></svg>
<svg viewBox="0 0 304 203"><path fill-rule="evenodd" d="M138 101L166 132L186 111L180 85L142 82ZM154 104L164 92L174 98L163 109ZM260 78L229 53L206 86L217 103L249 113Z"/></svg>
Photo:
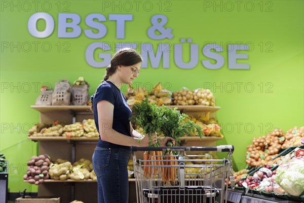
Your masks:
<svg viewBox="0 0 304 203"><path fill-rule="evenodd" d="M102 84L97 88L94 94L93 103L96 105L101 100L107 100L112 105L115 104L115 92L111 85Z"/></svg>

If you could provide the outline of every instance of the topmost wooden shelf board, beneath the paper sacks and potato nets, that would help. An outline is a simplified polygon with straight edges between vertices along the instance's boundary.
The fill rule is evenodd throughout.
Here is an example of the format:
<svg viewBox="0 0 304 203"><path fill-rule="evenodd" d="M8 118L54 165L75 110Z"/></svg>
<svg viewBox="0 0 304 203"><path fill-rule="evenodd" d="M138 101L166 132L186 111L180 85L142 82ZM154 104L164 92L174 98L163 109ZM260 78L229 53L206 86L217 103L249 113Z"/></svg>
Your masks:
<svg viewBox="0 0 304 203"><path fill-rule="evenodd" d="M71 112L87 112L91 113L90 106L30 106L32 109L35 109L39 112L53 112L53 111L71 111ZM201 111L210 111L216 112L220 109L220 107L212 107L212 106L204 106L204 105L189 105L189 106L181 106L181 105L171 105L167 106L170 108L177 107L178 110L185 109L187 112L201 112Z"/></svg>

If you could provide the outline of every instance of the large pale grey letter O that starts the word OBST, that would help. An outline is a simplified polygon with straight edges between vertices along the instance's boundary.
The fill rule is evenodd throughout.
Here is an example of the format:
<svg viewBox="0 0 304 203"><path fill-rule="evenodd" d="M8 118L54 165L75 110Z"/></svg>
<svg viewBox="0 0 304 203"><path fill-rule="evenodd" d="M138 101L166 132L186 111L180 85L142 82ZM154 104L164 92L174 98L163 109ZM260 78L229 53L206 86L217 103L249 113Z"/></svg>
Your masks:
<svg viewBox="0 0 304 203"><path fill-rule="evenodd" d="M37 30L37 21L44 19L46 21L46 28L43 31ZM34 13L28 19L27 28L29 33L36 38L47 38L52 35L54 31L54 18L48 13Z"/></svg>

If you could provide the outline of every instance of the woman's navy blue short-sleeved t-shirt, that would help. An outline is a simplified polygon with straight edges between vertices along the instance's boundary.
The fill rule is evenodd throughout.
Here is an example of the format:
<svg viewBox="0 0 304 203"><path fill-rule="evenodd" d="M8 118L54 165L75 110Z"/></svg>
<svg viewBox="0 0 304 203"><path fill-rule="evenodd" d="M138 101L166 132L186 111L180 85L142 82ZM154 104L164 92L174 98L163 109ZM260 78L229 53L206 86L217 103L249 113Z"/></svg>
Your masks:
<svg viewBox="0 0 304 203"><path fill-rule="evenodd" d="M114 106L112 128L124 134L125 136L131 137L130 118L132 116L132 111L127 104L125 95L115 84L111 83L110 81L103 81L98 86L93 96L94 120L97 131L99 132L99 130L103 130L99 129L97 111L97 103L101 100L107 100ZM103 128L109 128L109 125L104 124ZM127 150L131 149L129 146L117 145L103 141L101 140L100 135L97 146L103 148L122 148Z"/></svg>

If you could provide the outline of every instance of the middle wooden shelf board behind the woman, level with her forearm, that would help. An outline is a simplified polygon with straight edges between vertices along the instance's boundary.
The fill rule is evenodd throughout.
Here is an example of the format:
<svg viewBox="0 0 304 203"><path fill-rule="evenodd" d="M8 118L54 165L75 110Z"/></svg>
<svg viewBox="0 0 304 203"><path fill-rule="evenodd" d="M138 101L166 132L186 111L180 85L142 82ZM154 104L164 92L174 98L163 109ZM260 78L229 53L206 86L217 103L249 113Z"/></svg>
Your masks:
<svg viewBox="0 0 304 203"><path fill-rule="evenodd" d="M163 139L164 137L161 137ZM95 138L87 138L87 137L80 137L80 138L70 138L67 139L66 137L28 137L28 139L32 141L75 141L75 142L98 142L98 137ZM213 136L205 136L205 137L182 137L180 140L188 140L188 141L217 141L221 140L221 137L213 137Z"/></svg>

